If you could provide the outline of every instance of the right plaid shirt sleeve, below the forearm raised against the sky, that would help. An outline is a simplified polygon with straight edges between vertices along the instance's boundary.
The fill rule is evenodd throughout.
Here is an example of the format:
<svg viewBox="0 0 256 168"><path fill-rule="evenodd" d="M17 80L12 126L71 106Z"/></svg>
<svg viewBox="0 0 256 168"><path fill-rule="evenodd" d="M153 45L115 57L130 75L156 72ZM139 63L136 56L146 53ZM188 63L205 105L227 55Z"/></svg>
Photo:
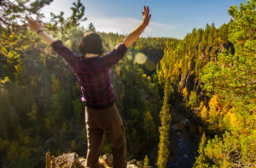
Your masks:
<svg viewBox="0 0 256 168"><path fill-rule="evenodd" d="M119 59L122 59L127 52L125 44L119 43L110 53L102 57L102 64L105 69L110 69Z"/></svg>

